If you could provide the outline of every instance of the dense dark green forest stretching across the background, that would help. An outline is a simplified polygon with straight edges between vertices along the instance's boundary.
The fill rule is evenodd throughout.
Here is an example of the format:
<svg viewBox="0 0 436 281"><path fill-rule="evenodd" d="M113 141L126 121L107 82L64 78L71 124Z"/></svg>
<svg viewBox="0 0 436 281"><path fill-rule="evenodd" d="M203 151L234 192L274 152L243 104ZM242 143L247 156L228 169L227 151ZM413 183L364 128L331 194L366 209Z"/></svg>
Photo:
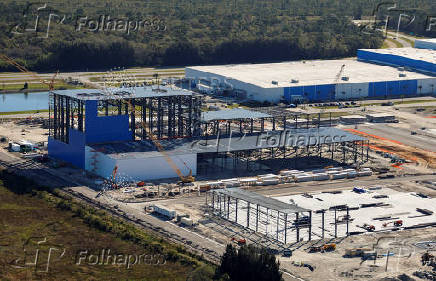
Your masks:
<svg viewBox="0 0 436 281"><path fill-rule="evenodd" d="M435 1L398 2L389 10L374 0L4 0L0 47L37 71L340 58L383 44L353 19L389 15L394 27L400 8L416 14L403 31L435 35L426 30ZM0 62L0 71L15 69Z"/></svg>

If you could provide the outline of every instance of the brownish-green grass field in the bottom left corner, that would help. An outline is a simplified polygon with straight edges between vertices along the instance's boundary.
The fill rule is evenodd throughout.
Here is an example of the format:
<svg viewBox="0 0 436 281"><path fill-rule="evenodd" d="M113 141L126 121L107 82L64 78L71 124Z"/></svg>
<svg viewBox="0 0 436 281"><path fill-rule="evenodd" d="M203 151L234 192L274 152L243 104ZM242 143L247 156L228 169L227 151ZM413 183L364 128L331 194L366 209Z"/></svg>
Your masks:
<svg viewBox="0 0 436 281"><path fill-rule="evenodd" d="M0 173L0 280L186 280L213 272L181 247L31 185Z"/></svg>

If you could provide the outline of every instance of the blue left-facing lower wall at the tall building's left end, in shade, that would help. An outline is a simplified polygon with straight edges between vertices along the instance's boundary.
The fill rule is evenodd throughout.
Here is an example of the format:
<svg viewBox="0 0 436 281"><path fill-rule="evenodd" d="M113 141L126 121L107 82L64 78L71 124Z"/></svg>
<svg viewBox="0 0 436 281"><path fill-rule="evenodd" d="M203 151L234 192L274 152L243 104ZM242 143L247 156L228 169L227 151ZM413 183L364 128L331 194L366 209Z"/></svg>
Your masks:
<svg viewBox="0 0 436 281"><path fill-rule="evenodd" d="M77 130L69 130L69 143L48 138L48 152L51 157L85 168L85 135Z"/></svg>

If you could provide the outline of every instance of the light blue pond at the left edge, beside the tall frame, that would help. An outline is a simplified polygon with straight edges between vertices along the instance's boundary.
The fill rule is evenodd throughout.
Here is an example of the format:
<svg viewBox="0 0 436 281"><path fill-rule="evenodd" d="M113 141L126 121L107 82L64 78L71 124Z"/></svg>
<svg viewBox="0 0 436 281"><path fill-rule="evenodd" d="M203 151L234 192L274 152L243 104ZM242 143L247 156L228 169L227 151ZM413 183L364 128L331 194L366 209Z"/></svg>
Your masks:
<svg viewBox="0 0 436 281"><path fill-rule="evenodd" d="M48 92L0 94L0 112L48 109Z"/></svg>

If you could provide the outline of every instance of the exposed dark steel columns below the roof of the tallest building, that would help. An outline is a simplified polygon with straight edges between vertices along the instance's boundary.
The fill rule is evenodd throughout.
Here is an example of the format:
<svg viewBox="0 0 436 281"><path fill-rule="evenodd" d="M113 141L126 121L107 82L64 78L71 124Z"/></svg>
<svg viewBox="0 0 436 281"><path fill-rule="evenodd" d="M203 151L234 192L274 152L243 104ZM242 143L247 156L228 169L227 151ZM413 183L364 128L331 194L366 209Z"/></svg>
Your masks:
<svg viewBox="0 0 436 281"><path fill-rule="evenodd" d="M198 95L172 95L98 100L98 115L128 115L133 140L149 140L145 124L158 139L189 138L200 135L202 99ZM49 135L68 143L69 129L85 128L86 101L50 93ZM135 110L132 110L132 106Z"/></svg>

